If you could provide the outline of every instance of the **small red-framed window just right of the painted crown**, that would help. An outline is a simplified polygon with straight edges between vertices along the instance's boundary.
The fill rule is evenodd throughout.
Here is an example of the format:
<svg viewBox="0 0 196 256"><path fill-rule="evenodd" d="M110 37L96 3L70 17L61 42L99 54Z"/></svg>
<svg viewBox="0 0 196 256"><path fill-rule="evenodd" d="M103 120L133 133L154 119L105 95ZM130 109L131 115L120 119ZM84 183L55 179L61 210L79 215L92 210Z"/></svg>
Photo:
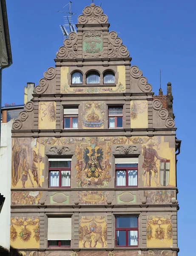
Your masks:
<svg viewBox="0 0 196 256"><path fill-rule="evenodd" d="M122 128L122 107L109 107L108 108L108 127L109 128Z"/></svg>

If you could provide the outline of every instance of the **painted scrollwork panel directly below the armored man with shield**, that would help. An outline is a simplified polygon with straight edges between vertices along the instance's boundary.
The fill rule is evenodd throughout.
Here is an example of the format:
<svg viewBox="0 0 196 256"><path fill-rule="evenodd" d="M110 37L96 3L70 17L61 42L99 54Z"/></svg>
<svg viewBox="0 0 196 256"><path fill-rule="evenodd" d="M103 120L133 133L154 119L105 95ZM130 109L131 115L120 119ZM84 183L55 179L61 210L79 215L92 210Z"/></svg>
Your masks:
<svg viewBox="0 0 196 256"><path fill-rule="evenodd" d="M175 193L173 190L146 190L144 196L147 204L171 204Z"/></svg>

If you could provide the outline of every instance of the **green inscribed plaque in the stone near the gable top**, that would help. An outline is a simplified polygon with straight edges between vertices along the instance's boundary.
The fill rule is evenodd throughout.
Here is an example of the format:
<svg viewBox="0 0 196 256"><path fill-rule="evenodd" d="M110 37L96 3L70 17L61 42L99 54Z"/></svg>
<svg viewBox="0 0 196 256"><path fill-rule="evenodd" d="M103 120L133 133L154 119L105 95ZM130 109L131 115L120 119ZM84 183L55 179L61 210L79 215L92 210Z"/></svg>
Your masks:
<svg viewBox="0 0 196 256"><path fill-rule="evenodd" d="M86 53L94 54L102 52L103 50L103 40L97 36L91 36L85 38L83 41L83 51Z"/></svg>

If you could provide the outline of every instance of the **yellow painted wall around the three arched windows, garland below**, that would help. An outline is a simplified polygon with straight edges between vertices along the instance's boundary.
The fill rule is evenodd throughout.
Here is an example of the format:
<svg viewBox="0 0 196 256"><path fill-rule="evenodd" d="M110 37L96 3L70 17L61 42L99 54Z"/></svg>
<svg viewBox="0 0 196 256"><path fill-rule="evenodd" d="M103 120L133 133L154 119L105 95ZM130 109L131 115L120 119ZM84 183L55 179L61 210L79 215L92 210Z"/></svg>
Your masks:
<svg viewBox="0 0 196 256"><path fill-rule="evenodd" d="M60 89L61 93L123 93L126 91L125 87L125 66L117 66L118 83L114 87L105 86L99 87L95 85L93 87L70 87L68 84L69 68L61 67L60 76Z"/></svg>

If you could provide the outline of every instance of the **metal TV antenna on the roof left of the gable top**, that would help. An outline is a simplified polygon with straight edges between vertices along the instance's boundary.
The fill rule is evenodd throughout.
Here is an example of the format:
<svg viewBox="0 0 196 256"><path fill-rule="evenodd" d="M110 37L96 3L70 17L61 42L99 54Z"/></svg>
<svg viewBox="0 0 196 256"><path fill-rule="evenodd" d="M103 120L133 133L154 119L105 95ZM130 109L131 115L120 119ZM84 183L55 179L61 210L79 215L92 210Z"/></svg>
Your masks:
<svg viewBox="0 0 196 256"><path fill-rule="evenodd" d="M71 32L75 32L77 33L77 30L76 30L76 26L72 20L72 16L76 14L76 12L72 12L71 11L71 6L72 6L72 2L69 1L68 4L66 4L65 6L63 6L63 8L65 8L66 6L68 6L68 10L67 12L63 12L63 11L58 11L58 12L62 12L62 13L67 13L68 15L67 16L63 16L64 18L64 24L63 25L60 25L60 29L62 31L62 34L64 35L65 38L68 38L68 35L71 33Z"/></svg>

